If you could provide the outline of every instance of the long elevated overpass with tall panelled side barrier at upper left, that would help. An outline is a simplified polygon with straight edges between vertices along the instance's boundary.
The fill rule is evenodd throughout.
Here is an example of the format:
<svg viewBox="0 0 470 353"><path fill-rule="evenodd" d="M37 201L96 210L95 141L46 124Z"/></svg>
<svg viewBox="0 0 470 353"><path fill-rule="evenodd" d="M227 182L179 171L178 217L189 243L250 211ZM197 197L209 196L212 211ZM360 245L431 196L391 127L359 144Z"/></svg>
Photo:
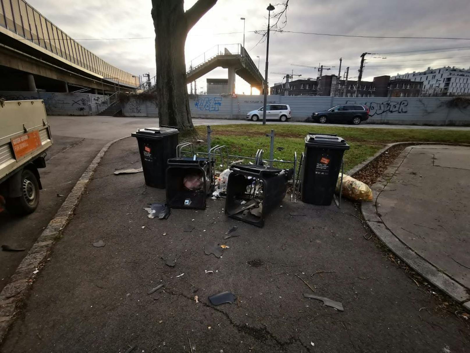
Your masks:
<svg viewBox="0 0 470 353"><path fill-rule="evenodd" d="M133 91L139 78L83 48L24 0L0 0L0 91Z"/></svg>

